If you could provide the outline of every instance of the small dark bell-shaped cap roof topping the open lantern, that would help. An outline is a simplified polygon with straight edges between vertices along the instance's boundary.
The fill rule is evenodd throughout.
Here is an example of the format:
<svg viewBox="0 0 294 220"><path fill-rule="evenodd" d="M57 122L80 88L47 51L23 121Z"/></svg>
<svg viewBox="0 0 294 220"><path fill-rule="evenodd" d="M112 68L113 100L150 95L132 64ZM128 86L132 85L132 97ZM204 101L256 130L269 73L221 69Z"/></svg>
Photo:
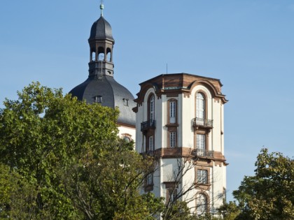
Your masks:
<svg viewBox="0 0 294 220"><path fill-rule="evenodd" d="M94 24L92 24L89 41L99 39L114 41L111 25L104 19L103 16L101 16L96 22L94 22Z"/></svg>

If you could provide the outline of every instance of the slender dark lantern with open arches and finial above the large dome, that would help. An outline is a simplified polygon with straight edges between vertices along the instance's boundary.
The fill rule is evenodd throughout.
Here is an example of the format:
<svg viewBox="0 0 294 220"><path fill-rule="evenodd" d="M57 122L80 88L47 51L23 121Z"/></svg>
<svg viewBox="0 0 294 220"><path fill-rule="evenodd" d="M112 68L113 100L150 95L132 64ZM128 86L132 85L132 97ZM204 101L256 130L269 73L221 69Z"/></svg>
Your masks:
<svg viewBox="0 0 294 220"><path fill-rule="evenodd" d="M103 17L104 5L100 5L101 16L91 28L89 76L99 78L102 75L113 77L113 45L111 25Z"/></svg>

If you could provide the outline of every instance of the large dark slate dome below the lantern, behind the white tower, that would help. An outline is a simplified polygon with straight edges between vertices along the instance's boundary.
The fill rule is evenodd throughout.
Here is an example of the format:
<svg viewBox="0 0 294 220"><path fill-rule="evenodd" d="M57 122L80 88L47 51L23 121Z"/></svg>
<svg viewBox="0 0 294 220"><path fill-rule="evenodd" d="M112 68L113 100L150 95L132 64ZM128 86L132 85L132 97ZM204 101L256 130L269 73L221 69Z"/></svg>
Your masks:
<svg viewBox="0 0 294 220"><path fill-rule="evenodd" d="M99 80L96 80L94 76L89 77L69 93L87 103L94 103L99 98L103 106L118 107L120 110L118 123L136 126L136 115L132 110L136 107L134 96L113 77L109 75L101 77Z"/></svg>

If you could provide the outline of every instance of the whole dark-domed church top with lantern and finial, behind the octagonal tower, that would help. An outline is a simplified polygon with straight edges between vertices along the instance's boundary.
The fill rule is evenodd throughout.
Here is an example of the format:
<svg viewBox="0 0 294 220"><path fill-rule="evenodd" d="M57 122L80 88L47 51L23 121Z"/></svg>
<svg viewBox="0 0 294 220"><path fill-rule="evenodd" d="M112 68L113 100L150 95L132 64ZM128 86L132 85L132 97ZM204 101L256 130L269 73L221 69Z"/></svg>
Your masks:
<svg viewBox="0 0 294 220"><path fill-rule="evenodd" d="M118 117L119 135L129 140L135 139L136 105L134 96L113 78L113 45L112 29L103 15L104 6L100 5L101 16L92 24L90 38L89 75L85 82L69 92L79 100L87 103L101 103L103 106L120 110Z"/></svg>

